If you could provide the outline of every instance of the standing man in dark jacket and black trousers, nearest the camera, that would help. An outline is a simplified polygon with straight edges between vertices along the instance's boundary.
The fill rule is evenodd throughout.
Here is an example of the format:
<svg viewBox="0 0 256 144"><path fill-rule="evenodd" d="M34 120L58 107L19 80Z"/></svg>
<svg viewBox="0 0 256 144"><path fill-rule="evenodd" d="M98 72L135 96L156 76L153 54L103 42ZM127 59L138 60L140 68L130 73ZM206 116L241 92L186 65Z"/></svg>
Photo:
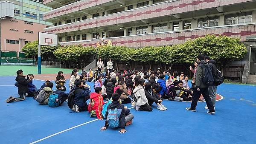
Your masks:
<svg viewBox="0 0 256 144"><path fill-rule="evenodd" d="M204 66L207 65L207 62L204 60L204 55L198 54L197 61L199 62L196 77L195 77L195 90L192 96L192 103L190 107L187 107L186 110L195 112L195 107L197 105L198 99L200 98L201 94L204 96L205 102L209 111L207 113L212 114L215 113L214 107L212 105L211 98L209 96L208 85L204 84L202 78L205 76L205 68Z"/></svg>

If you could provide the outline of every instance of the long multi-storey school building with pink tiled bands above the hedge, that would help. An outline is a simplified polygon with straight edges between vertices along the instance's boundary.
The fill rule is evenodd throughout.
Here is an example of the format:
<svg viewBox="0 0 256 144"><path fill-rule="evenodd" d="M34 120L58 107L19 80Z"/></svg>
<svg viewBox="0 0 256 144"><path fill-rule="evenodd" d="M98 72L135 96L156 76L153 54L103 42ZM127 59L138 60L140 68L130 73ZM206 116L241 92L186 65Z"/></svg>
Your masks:
<svg viewBox="0 0 256 144"><path fill-rule="evenodd" d="M61 45L96 46L102 39L128 47L175 45L206 34L222 34L239 37L246 43L250 52L245 61L251 61L256 54L251 53L254 46L248 41L256 36L256 0L44 0L43 3L54 8L44 14L44 20L54 26L44 30L58 34Z"/></svg>

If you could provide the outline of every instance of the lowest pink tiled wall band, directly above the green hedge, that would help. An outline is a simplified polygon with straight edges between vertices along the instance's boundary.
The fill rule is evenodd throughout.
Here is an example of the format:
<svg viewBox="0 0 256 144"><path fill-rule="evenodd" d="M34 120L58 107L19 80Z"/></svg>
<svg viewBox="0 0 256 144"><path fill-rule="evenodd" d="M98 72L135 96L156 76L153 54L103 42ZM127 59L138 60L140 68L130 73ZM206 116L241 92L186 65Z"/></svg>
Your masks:
<svg viewBox="0 0 256 144"><path fill-rule="evenodd" d="M113 45L127 46L127 47L145 47L145 46L159 46L159 45L176 45L182 44L186 40L204 37L206 34L227 35L229 37L239 37L241 41L246 41L248 36L256 36L256 25L240 25L240 26L226 26L219 28L204 28L189 31L166 32L159 34L145 34L134 35L128 37L114 37L106 38L104 40L111 40ZM90 40L81 42L62 42L61 45L84 45L96 46L97 42L101 40Z"/></svg>

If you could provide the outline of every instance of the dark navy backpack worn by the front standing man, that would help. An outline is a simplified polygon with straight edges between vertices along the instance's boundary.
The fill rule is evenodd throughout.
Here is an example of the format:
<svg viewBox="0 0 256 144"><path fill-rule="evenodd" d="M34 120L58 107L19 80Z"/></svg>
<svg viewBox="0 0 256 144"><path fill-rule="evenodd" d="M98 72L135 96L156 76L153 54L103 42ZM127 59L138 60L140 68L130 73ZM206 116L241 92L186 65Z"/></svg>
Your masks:
<svg viewBox="0 0 256 144"><path fill-rule="evenodd" d="M210 65L205 64L205 65L198 65L198 66L200 66L202 69L204 68L204 76L202 77L202 82L205 85L213 85L214 79L212 76L212 69Z"/></svg>

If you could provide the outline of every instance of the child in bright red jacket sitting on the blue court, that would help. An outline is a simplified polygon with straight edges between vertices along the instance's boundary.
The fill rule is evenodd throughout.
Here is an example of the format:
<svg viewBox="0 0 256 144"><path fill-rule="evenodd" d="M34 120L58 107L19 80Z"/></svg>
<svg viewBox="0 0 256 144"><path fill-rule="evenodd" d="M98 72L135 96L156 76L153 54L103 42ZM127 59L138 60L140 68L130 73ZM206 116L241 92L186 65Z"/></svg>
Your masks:
<svg viewBox="0 0 256 144"><path fill-rule="evenodd" d="M102 88L96 87L95 93L90 94L90 99L91 99L91 102L89 102L89 106L88 106L89 113L92 110L95 110L97 118L100 120L103 120L103 116L101 112L102 112L103 104L105 103L103 102Z"/></svg>

